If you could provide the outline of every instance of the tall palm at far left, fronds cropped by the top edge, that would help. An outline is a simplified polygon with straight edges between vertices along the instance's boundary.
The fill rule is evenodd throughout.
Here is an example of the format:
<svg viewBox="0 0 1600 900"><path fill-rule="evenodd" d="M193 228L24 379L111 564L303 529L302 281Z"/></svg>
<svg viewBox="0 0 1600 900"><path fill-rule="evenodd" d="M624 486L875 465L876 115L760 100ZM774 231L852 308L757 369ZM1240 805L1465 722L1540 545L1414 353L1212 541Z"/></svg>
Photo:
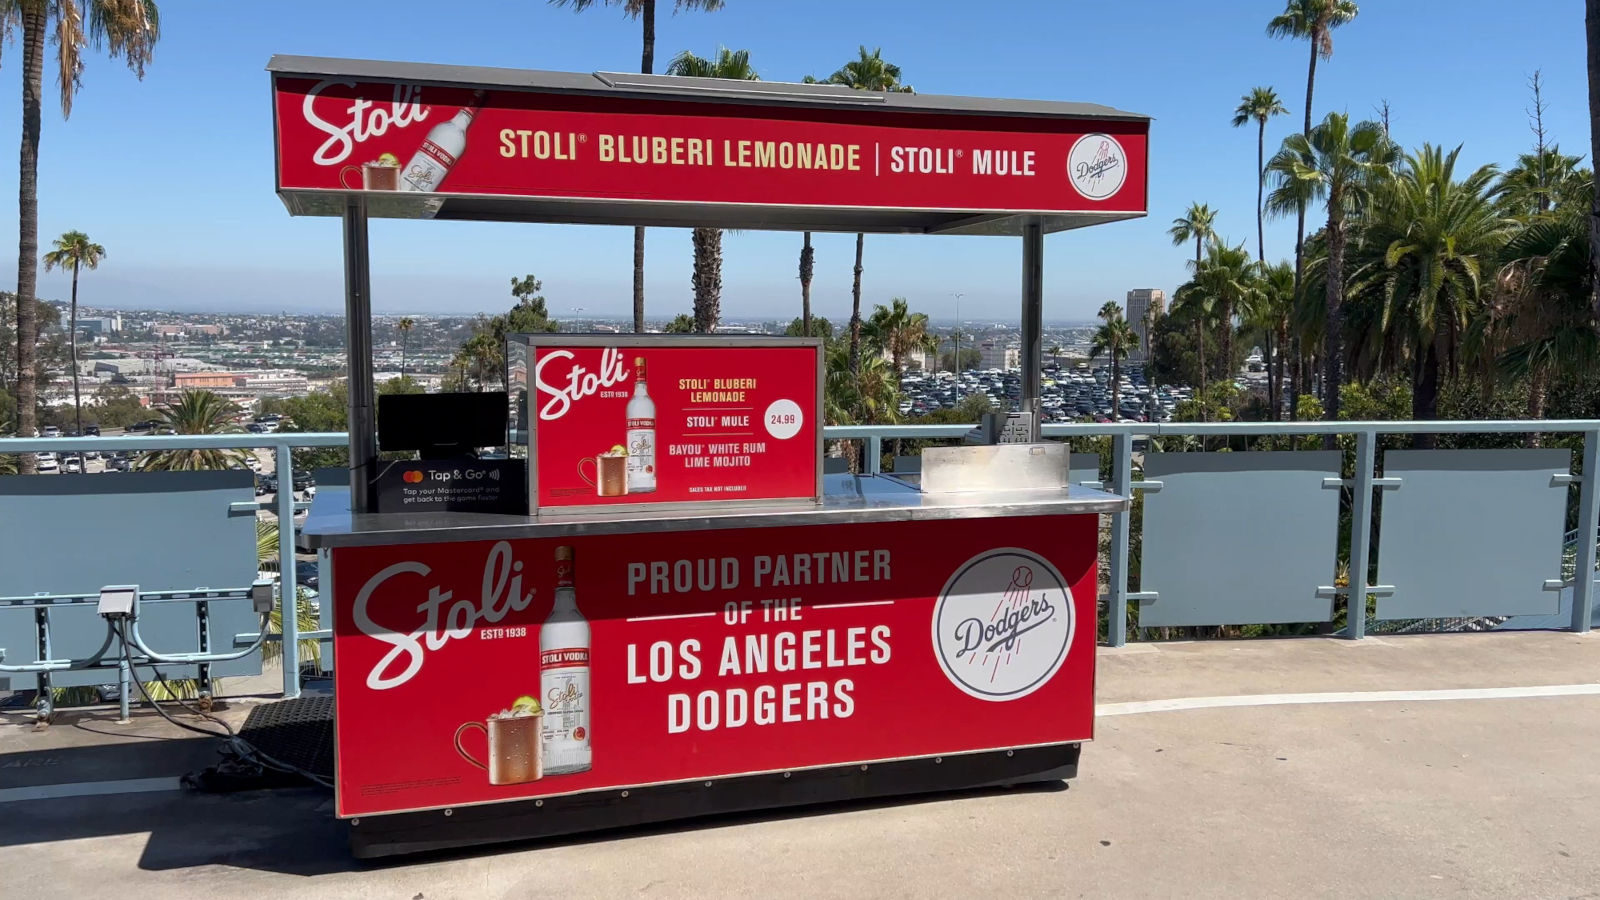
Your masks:
<svg viewBox="0 0 1600 900"><path fill-rule="evenodd" d="M16 248L16 405L18 432L37 434L38 384L38 135L45 94L45 35L54 26L56 69L61 83L61 117L72 115L72 98L83 85L83 50L106 48L125 59L144 78L160 14L154 0L0 0L0 35L22 30L22 151L18 178ZM22 455L21 471L35 472L32 453Z"/></svg>

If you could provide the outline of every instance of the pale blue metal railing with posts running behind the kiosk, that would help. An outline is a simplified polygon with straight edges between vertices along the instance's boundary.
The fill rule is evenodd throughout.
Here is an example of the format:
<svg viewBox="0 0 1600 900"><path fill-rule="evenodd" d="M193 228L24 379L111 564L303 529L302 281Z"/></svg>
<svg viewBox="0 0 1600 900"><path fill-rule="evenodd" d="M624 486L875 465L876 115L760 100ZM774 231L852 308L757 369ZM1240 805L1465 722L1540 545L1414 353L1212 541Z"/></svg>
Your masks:
<svg viewBox="0 0 1600 900"><path fill-rule="evenodd" d="M824 429L827 440L861 440L864 444L862 471L877 474L882 468L883 442L893 439L912 440L950 440L960 439L971 431L970 424L894 424L894 426L829 426ZM1342 487L1352 492L1352 528L1349 541L1349 572L1355 586L1363 586L1366 593L1381 589L1368 585L1370 548L1373 533L1373 492L1386 487L1376 477L1376 452L1381 436L1392 434L1581 434L1584 437L1582 474L1571 480L1579 484L1578 527L1576 533L1600 533L1600 420L1493 420L1493 421L1302 421L1302 423L1115 423L1115 424L1046 424L1046 439L1072 437L1109 437L1110 439L1110 479L1107 490L1131 496L1134 492L1157 488L1157 482L1134 479L1134 439L1136 437L1278 437L1278 436L1341 436L1354 437L1355 469L1354 477L1342 480ZM219 436L123 436L123 437L51 437L51 439L0 439L0 455L32 453L32 452L80 452L80 450L165 450L165 448L272 448L277 458L280 485L293 484L294 448L302 447L344 447L347 437L334 432L318 434L219 434ZM285 477L286 476L286 477ZM277 516L280 522L280 589L278 597L285 612L282 615L283 629L277 639L283 644L283 690L285 695L299 693L299 653L301 637L326 639L328 634L317 631L301 634L294 620L293 597L294 578L294 511L293 490L280 490L277 496ZM285 528L283 524L288 522ZM1147 599L1130 591L1128 573L1131 562L1130 551L1131 512L1110 516L1110 549L1109 549L1109 589L1107 589L1107 642L1118 647L1126 642L1128 604ZM1568 577L1565 586L1573 589L1571 629L1589 631L1592 626L1590 610L1595 604L1597 557L1600 548L1597 541L1573 541L1574 575ZM1578 575L1587 573L1587 577ZM1565 575L1565 573L1563 573ZM1358 589L1339 589L1346 597L1362 596ZM1355 607L1362 609L1362 607ZM1358 639L1365 634L1365 615L1349 615L1346 636Z"/></svg>

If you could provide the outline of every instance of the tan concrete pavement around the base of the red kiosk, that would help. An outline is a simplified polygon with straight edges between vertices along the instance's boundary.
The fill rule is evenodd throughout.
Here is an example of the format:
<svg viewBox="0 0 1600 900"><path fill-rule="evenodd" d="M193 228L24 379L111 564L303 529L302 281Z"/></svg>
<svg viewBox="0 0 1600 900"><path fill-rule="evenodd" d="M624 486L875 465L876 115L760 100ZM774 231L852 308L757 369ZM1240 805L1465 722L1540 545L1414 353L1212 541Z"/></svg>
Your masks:
<svg viewBox="0 0 1600 900"><path fill-rule="evenodd" d="M1126 703L1592 684L1597 663L1600 637L1562 633L1168 644L1102 652L1098 687ZM0 884L130 898L1600 895L1600 697L1285 700L1106 716L1066 790L376 866L347 857L330 799L310 790L10 802ZM0 725L0 788L40 738Z"/></svg>

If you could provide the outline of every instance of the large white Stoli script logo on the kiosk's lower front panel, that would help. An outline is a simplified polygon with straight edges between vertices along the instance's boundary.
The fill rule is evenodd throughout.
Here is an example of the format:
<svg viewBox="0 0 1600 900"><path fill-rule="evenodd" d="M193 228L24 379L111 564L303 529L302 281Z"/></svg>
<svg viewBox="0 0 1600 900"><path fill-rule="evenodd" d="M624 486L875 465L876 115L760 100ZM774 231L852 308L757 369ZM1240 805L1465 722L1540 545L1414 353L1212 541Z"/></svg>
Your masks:
<svg viewBox="0 0 1600 900"><path fill-rule="evenodd" d="M355 594L355 609L350 618L362 634L389 645L384 658L378 660L373 671L366 673L366 687L371 690L389 690L411 681L422 671L422 661L430 650L438 650L456 637L470 637L477 623L496 623L507 613L522 612L533 602L533 591L522 589L522 562L512 559L510 544L499 541L490 549L483 560L483 589L477 601L462 597L451 602L453 591L438 585L427 585L427 599L416 604L416 612L422 613L422 621L410 633L379 625L368 613L373 594L378 588L400 575L416 575L427 578L430 569L421 562L397 562L362 585ZM424 585L406 580L405 589L413 591L411 597L421 594ZM397 593L400 588L397 588ZM402 594L403 597L405 594ZM389 609L402 609L403 601L386 604Z"/></svg>

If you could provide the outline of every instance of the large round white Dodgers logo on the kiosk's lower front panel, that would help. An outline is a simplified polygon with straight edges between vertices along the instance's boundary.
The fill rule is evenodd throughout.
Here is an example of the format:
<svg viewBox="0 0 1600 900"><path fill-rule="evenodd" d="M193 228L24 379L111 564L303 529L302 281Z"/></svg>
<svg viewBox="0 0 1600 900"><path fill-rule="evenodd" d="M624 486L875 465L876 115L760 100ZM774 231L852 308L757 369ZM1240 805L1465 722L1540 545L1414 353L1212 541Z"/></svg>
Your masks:
<svg viewBox="0 0 1600 900"><path fill-rule="evenodd" d="M933 652L950 684L979 700L1034 693L1072 647L1072 589L1048 560L1018 548L963 562L933 609Z"/></svg>

